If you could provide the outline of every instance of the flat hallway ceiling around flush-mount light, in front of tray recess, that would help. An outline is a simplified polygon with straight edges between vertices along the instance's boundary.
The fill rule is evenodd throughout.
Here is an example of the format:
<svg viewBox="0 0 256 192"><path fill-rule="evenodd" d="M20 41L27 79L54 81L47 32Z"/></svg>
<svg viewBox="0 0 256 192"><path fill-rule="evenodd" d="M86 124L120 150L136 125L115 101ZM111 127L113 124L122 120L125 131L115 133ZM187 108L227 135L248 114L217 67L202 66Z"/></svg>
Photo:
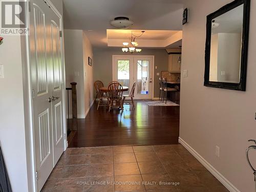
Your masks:
<svg viewBox="0 0 256 192"><path fill-rule="evenodd" d="M63 12L65 29L93 30L86 34L94 47L107 47L117 16L133 20L133 30L182 30L182 0L63 0Z"/></svg>

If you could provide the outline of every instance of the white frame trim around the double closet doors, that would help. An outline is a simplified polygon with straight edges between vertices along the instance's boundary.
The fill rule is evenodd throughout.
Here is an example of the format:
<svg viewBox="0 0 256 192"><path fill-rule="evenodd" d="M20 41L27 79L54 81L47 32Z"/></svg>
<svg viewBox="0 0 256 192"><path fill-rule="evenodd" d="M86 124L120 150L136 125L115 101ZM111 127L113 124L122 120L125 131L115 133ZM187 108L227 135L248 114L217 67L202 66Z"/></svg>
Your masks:
<svg viewBox="0 0 256 192"><path fill-rule="evenodd" d="M41 1L41 0L34 0L34 1ZM59 13L59 11L56 9L56 7L53 5L53 3L50 0L45 0L45 2L50 6L52 11L59 17L60 19L60 30L62 33L61 37L61 61L62 61L62 98L63 98L63 104L62 104L62 116L63 116L63 142L64 142L64 150L68 147L68 140L67 140L67 130L66 130L66 72L65 72L65 52L64 52L64 38L63 38L63 19L62 15ZM29 2L30 3L30 2ZM32 6L30 6L32 7ZM28 25L30 25L29 20L29 8L27 7L26 10L26 19ZM21 37L22 38L22 37ZM25 111L25 122L27 121L28 129L25 130L26 136L28 137L28 141L26 140L26 157L27 157L27 170L28 170L28 185L29 188L33 191L37 191L37 181L36 181L36 161L35 161L35 142L34 142L34 116L33 116L33 97L32 97L32 83L31 83L31 66L30 66L30 38L27 34L25 36L25 42L26 46L26 64L27 67L25 67L25 74L23 75L23 78L26 79L26 87L24 88L24 95L28 97L28 103L27 108Z"/></svg>

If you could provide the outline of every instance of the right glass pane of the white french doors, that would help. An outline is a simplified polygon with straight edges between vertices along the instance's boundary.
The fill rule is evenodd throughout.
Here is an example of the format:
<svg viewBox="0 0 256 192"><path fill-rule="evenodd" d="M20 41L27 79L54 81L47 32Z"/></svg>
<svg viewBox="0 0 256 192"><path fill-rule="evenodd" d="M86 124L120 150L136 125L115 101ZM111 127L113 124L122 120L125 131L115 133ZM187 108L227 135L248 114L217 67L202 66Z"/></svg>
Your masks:
<svg viewBox="0 0 256 192"><path fill-rule="evenodd" d="M137 60L137 94L149 94L149 60Z"/></svg>

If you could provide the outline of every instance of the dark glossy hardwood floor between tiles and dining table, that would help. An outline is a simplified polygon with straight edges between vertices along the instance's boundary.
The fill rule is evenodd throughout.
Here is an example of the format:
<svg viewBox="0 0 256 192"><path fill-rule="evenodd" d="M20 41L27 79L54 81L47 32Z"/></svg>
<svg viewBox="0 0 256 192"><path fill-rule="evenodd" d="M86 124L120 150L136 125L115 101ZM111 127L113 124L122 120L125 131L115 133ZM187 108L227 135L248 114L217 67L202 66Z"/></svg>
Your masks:
<svg viewBox="0 0 256 192"><path fill-rule="evenodd" d="M106 108L97 111L97 102L78 129L69 147L177 144L179 106L148 106L144 101L124 105L124 112Z"/></svg>

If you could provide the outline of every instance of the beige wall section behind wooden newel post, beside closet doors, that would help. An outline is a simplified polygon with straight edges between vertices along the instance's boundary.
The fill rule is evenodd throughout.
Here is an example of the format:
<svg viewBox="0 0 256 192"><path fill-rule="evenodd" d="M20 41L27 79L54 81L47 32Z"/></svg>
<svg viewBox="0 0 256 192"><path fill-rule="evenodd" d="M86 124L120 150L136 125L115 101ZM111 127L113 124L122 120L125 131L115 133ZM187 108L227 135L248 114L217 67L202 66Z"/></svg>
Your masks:
<svg viewBox="0 0 256 192"><path fill-rule="evenodd" d="M83 81L83 41L82 30L64 30L66 87L71 82L77 82L77 114L84 117L84 81ZM75 74L76 73L76 74ZM79 74L78 74L79 73ZM72 114L72 100L70 92L70 115ZM68 105L67 105L68 106ZM68 107L67 107L68 110Z"/></svg>

